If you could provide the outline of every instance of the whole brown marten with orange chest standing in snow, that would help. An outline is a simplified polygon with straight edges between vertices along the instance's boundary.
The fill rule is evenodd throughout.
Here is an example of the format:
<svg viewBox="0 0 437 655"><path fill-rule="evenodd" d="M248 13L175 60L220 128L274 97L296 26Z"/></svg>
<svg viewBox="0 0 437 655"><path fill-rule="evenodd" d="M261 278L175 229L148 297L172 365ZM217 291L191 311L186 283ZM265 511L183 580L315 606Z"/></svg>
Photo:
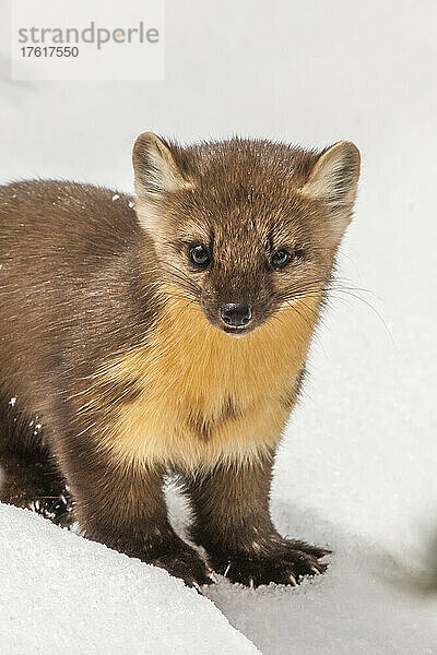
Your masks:
<svg viewBox="0 0 437 655"><path fill-rule="evenodd" d="M0 188L0 499L56 520L67 486L85 536L188 584L211 583L210 568L296 584L328 551L275 529L272 464L359 153L144 133L133 167L134 201ZM168 521L167 474L208 563Z"/></svg>

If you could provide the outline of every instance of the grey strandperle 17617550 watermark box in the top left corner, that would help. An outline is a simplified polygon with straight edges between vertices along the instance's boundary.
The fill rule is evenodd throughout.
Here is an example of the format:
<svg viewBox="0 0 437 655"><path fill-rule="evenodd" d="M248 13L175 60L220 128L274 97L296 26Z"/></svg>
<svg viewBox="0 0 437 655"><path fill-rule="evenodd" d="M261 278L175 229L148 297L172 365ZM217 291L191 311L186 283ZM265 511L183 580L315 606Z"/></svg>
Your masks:
<svg viewBox="0 0 437 655"><path fill-rule="evenodd" d="M11 43L13 80L163 80L164 0L13 0Z"/></svg>

